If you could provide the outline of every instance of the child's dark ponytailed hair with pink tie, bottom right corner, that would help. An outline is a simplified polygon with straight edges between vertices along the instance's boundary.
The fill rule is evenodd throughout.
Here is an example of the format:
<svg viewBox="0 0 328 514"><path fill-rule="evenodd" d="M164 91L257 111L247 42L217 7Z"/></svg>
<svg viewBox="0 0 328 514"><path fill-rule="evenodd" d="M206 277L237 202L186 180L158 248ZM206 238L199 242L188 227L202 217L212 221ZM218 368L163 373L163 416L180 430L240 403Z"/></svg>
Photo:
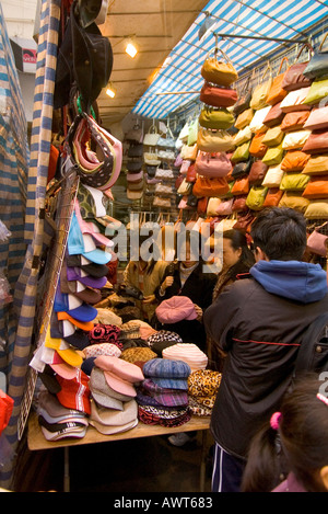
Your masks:
<svg viewBox="0 0 328 514"><path fill-rule="evenodd" d="M304 376L282 400L279 430L267 423L256 434L243 492L270 492L281 482L281 471L292 471L308 492L327 492L319 480L320 468L328 466L328 406L317 398L320 386L317 374Z"/></svg>

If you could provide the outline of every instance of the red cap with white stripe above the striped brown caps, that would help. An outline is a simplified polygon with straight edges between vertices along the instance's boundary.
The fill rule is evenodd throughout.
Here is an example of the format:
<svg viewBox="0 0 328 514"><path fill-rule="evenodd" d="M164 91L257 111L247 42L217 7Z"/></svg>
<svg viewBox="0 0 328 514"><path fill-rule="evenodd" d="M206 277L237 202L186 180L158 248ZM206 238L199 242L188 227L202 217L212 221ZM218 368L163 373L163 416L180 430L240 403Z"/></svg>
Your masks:
<svg viewBox="0 0 328 514"><path fill-rule="evenodd" d="M63 407L78 411L91 413L89 376L78 369L77 376L72 379L57 377L61 390L57 392L57 398Z"/></svg>

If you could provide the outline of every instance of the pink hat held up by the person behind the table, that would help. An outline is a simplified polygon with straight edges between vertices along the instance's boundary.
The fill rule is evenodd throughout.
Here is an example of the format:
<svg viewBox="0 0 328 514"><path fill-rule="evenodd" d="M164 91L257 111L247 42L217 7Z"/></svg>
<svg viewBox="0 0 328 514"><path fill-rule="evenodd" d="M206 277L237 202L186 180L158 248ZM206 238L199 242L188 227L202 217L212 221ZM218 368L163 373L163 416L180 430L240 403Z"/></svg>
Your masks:
<svg viewBox="0 0 328 514"><path fill-rule="evenodd" d="M156 308L161 323L176 323L181 320L194 320L197 312L194 302L187 296L173 296L162 301Z"/></svg>

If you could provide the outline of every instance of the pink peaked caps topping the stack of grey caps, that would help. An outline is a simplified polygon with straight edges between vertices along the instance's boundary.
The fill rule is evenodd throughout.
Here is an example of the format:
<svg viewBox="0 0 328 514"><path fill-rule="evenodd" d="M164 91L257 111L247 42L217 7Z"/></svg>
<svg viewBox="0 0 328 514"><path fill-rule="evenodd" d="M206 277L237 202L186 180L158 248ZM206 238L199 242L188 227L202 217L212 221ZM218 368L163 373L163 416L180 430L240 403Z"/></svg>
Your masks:
<svg viewBox="0 0 328 514"><path fill-rule="evenodd" d="M137 396L133 384L144 379L139 366L109 355L96 357L94 364L104 370L107 384L112 389L130 397Z"/></svg>

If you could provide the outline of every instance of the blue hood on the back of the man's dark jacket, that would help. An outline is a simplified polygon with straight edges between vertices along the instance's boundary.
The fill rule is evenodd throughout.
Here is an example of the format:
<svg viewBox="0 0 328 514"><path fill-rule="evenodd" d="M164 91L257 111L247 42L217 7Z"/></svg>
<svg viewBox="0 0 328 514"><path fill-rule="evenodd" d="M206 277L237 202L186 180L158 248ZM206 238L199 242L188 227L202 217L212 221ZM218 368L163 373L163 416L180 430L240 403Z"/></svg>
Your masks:
<svg viewBox="0 0 328 514"><path fill-rule="evenodd" d="M328 293L327 275L319 264L259 261L249 273L268 293L302 304L321 300Z"/></svg>

